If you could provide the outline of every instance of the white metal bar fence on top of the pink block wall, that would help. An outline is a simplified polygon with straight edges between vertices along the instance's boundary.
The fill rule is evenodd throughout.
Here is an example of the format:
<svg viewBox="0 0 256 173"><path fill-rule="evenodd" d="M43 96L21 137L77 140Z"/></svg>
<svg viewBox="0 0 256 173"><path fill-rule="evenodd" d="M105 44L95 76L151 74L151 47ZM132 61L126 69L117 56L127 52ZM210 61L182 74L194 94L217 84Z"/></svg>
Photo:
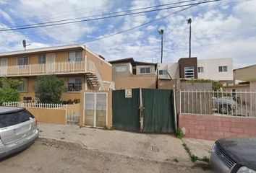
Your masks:
<svg viewBox="0 0 256 173"><path fill-rule="evenodd" d="M184 90L179 98L179 110L184 114L256 117L256 92Z"/></svg>

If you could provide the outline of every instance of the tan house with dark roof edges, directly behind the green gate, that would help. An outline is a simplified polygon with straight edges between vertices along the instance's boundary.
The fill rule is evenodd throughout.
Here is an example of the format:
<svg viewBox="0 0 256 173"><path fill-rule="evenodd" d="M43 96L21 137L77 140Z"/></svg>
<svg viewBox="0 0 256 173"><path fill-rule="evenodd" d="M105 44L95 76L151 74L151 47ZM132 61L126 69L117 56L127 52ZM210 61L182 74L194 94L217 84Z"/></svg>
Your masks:
<svg viewBox="0 0 256 173"><path fill-rule="evenodd" d="M116 89L156 88L156 63L138 62L133 58L109 61Z"/></svg>

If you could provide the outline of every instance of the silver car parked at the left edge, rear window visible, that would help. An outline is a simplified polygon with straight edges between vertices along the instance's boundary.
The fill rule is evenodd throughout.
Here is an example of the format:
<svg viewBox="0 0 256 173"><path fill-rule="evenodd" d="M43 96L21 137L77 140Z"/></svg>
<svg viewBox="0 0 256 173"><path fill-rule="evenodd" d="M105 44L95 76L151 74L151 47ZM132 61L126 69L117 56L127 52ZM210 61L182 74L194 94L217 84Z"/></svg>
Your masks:
<svg viewBox="0 0 256 173"><path fill-rule="evenodd" d="M29 147L38 138L35 117L22 107L0 107L0 159Z"/></svg>

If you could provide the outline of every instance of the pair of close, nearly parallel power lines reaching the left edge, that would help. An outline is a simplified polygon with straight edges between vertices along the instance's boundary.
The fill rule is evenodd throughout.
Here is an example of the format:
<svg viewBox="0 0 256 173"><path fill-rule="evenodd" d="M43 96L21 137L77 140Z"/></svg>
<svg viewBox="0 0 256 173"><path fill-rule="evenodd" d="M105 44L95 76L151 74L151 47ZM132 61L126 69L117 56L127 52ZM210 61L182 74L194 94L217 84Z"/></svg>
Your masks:
<svg viewBox="0 0 256 173"><path fill-rule="evenodd" d="M185 5L179 5L179 6L170 6L170 7L166 7L166 8L162 8L162 9L151 9L151 10L143 11L143 12L133 12L133 13L129 13L129 14L118 14L118 15L114 15L114 16L98 17L98 18L94 18L94 19L82 19L82 20L77 20L77 21L72 21L72 22L62 22L62 23L56 23L56 24L50 24L50 25L38 25L38 24L35 24L35 25L38 25L38 26L16 27L16 28L11 27L9 29L4 29L4 30L0 30L0 31L25 30L25 29L31 29L31 28L37 28L37 27L49 27L49 26L56 26L56 25L67 25L67 24L73 24L73 23L78 23L78 22L88 22L88 21L93 21L93 20L98 20L98 19L109 19L109 18L114 18L114 17L123 17L123 16L134 15L134 14L142 14L142 13L147 13L147 12L156 12L156 11L160 11L160 10L163 10L163 9L174 9L174 8L180 8L180 7L184 7L184 6L192 6L192 5L210 3L210 2L215 2L215 1L221 1L221 0L203 1L203 2L197 2L195 4L185 4Z"/></svg>

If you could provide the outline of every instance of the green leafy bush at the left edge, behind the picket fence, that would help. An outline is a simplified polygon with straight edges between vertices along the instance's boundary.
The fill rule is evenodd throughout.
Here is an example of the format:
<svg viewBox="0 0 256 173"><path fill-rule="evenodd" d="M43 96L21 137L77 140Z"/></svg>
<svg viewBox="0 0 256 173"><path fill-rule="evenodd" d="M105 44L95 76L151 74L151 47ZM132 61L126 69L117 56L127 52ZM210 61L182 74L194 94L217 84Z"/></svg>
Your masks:
<svg viewBox="0 0 256 173"><path fill-rule="evenodd" d="M0 79L0 105L3 102L18 102L20 101L19 86L23 84L23 79Z"/></svg>

